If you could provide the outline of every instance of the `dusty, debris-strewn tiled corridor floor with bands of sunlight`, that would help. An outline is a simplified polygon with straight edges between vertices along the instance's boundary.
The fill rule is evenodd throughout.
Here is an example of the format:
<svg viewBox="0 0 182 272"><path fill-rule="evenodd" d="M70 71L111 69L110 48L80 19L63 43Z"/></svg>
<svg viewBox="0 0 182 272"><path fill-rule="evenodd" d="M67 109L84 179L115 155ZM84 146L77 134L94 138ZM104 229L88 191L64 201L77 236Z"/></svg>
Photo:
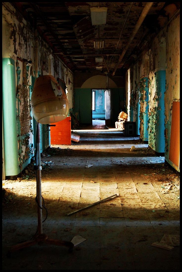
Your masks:
<svg viewBox="0 0 182 272"><path fill-rule="evenodd" d="M171 251L151 246L164 234L180 234L179 173L138 137L99 128L104 130L78 129L73 133L79 143L52 146L41 157L43 233L86 240L72 252L43 243L7 257L9 246L30 240L37 230L36 175L29 165L22 179L2 181L8 190L2 202L3 270L180 269L179 246Z"/></svg>

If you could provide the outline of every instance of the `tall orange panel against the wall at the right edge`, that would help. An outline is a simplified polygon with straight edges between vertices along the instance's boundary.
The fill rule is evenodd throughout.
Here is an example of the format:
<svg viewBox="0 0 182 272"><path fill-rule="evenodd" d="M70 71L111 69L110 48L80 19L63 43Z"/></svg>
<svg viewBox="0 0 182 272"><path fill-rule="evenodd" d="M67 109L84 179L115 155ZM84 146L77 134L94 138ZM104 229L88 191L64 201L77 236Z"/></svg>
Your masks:
<svg viewBox="0 0 182 272"><path fill-rule="evenodd" d="M180 163L180 102L173 101L169 159L177 167Z"/></svg>

